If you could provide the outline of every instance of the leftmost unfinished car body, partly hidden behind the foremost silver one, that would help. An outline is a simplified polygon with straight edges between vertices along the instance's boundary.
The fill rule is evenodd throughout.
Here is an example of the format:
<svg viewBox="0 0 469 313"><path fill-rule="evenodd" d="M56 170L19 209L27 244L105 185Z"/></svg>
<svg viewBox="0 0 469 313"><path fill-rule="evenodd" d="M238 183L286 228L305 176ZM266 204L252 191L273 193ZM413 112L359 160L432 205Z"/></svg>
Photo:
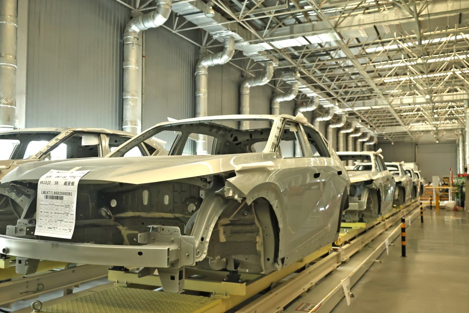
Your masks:
<svg viewBox="0 0 469 313"><path fill-rule="evenodd" d="M21 164L106 156L135 134L102 128L25 128L0 132L0 178ZM149 156L155 151L164 154L154 140L134 148L128 156ZM0 185L0 234L6 226L21 217L22 208L15 201L11 188ZM21 201L21 200L18 200ZM13 204L13 205L12 205Z"/></svg>

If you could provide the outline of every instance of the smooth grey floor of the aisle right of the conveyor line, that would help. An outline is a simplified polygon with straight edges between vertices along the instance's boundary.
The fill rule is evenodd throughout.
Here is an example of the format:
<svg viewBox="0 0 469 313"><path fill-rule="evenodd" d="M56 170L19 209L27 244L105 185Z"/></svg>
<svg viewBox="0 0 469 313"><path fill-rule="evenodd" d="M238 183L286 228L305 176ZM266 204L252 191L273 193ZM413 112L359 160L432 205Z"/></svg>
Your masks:
<svg viewBox="0 0 469 313"><path fill-rule="evenodd" d="M352 287L333 313L469 312L469 214L426 210Z"/></svg>

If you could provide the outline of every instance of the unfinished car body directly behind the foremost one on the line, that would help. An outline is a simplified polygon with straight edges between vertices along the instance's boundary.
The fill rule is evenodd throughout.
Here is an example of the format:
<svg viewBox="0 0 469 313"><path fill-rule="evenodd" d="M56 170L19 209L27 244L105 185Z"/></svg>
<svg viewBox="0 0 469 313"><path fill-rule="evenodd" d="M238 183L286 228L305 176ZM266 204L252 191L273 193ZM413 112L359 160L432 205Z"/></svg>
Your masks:
<svg viewBox="0 0 469 313"><path fill-rule="evenodd" d="M370 221L391 212L396 182L377 152L338 152L343 162L354 162L350 176L350 206L343 212L347 222Z"/></svg>

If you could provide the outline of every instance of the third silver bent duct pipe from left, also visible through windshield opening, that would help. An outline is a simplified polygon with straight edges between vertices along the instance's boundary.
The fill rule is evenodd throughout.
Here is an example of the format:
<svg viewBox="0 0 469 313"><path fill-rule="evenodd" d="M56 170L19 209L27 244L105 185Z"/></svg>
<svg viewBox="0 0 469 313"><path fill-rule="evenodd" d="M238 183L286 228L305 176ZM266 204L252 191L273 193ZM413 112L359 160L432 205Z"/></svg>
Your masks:
<svg viewBox="0 0 469 313"><path fill-rule="evenodd" d="M206 55L200 59L195 69L195 117L207 116L208 113L208 68L228 63L235 54L235 38L225 37L223 51ZM197 155L207 154L207 136L199 134Z"/></svg>

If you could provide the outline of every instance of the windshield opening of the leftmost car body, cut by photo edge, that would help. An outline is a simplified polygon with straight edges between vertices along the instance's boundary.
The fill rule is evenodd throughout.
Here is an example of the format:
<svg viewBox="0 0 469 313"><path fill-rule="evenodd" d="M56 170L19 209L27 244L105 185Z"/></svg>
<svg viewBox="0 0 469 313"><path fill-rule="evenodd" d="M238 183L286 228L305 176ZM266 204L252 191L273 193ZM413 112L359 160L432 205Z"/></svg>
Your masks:
<svg viewBox="0 0 469 313"><path fill-rule="evenodd" d="M59 132L48 133L8 133L0 134L0 157L7 159L25 159L38 153Z"/></svg>

